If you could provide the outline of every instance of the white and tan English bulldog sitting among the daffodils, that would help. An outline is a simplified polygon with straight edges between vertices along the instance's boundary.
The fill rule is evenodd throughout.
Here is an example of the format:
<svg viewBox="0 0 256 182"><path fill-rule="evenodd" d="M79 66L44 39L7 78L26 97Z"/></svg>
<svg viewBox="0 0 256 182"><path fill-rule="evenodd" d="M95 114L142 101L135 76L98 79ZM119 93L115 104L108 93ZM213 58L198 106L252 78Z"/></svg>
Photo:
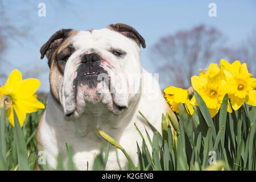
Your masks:
<svg viewBox="0 0 256 182"><path fill-rule="evenodd" d="M160 131L162 113L170 109L157 79L141 66L141 46L146 48L142 36L121 23L100 30L62 29L42 46L51 91L36 138L51 169L56 169L58 154L67 162L66 143L73 148L76 169L92 169L101 144L107 143L96 127L117 140L138 163L137 142L141 146L142 138L134 123L145 137L144 127L150 137L153 134L138 111ZM119 150L118 158L126 169L127 159ZM119 167L110 146L106 170L114 169Z"/></svg>

